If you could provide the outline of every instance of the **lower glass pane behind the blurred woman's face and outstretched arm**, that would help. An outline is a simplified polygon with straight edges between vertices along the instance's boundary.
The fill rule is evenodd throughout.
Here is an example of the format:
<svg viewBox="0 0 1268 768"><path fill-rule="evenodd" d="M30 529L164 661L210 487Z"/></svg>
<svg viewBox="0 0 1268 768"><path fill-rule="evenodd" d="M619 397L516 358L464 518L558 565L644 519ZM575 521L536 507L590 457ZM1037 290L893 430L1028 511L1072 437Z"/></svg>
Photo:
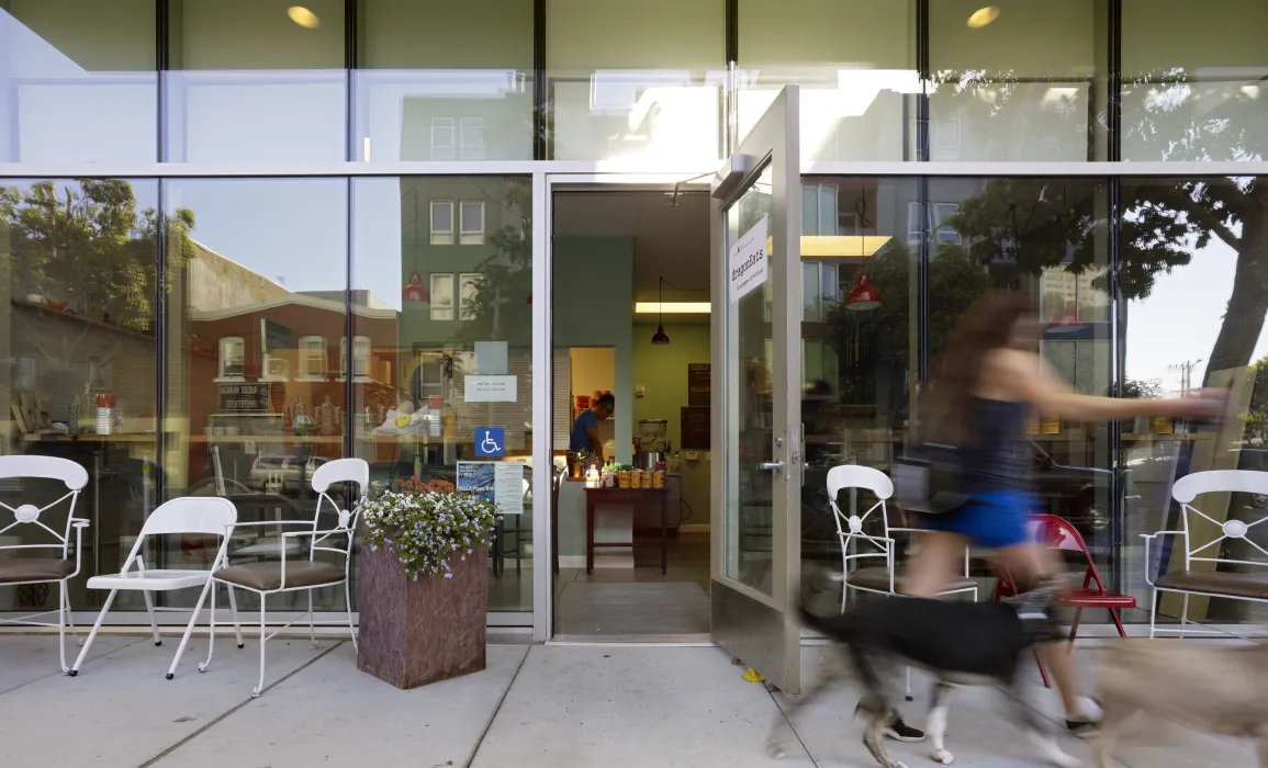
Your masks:
<svg viewBox="0 0 1268 768"><path fill-rule="evenodd" d="M1038 352L1077 392L1111 394L1107 182L931 179L928 194L929 359L947 347L980 295L993 288L1021 290L1040 314ZM1037 511L1074 523L1106 578L1117 565L1111 449L1110 425L1042 413L1022 445L1032 460Z"/></svg>

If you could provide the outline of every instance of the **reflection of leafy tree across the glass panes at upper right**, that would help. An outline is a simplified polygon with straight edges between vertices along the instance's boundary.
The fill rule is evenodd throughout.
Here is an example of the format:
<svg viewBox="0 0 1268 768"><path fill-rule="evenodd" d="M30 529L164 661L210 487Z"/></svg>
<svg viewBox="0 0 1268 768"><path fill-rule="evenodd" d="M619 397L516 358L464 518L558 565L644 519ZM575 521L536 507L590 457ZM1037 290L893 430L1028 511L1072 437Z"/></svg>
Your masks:
<svg viewBox="0 0 1268 768"><path fill-rule="evenodd" d="M938 100L955 99L957 108L969 110L974 119L993 120L988 136L1025 142L1025 146L1008 150L1008 157L1044 160L1044 146L1066 141L1066 129L1080 122L1075 119L1079 110L1074 110L1066 120L1025 123L1033 115L1051 112L1044 105L1045 99L1050 100L1051 89L1022 87L1022 79L1012 71L943 74L935 80L941 85ZM1055 80L1051 82L1059 85ZM983 89L989 91L989 99L981 98ZM1227 79L1203 81L1182 67L1126 77L1121 143L1130 148L1134 160L1263 160L1268 129L1259 96L1258 85L1243 87ZM1079 108L1087 112L1087 104ZM1102 128L1111 124L1104 112L1097 115L1097 122ZM1106 136L1098 141L1104 142ZM1016 257L1026 260L1018 265L1035 274L1035 261L1051 265L1063 248L1074 248L1075 259L1069 269L1082 271L1092 265L1096 238L1104 236L1104 214L1063 213L1051 199L1040 198L1040 189L1050 190L1052 184L1065 182L993 181L983 194L965 202L960 221L951 224L957 229L964 227L961 232L967 237L983 229L993 231L990 242L975 243L979 256L990 248L1014 246ZM1089 186L1092 182L1069 184ZM1127 180L1122 185L1121 212L1120 290L1123 299L1149 297L1159 271L1189 264L1192 252L1206 247L1212 237L1238 253L1227 312L1213 349L1206 355L1203 383L1210 383L1215 371L1248 366L1268 310L1268 186L1254 177ZM1009 241L1007 229L1014 214L1018 221L1031 224L1025 242ZM1032 256L1031 248L1040 252Z"/></svg>

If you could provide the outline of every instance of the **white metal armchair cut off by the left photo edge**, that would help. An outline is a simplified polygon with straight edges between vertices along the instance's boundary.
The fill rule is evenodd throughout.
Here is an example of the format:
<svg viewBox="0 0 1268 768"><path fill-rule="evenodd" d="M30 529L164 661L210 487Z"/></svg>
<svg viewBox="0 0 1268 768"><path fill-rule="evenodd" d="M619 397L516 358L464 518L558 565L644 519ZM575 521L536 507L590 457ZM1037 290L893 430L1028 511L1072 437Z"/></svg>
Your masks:
<svg viewBox="0 0 1268 768"><path fill-rule="evenodd" d="M20 554L32 550L53 550L57 556L43 558L4 558L0 559L0 587L23 587L28 584L57 584L57 610L28 613L18 618L0 620L0 624L19 626L47 626L57 627L58 653L61 654L62 674L70 673L66 667L66 627L71 627L71 634L79 637L75 624L71 621L71 598L67 582L80 572L84 551L84 528L89 521L75 517L75 503L79 501L80 490L87 485L87 470L67 459L53 456L0 456L0 479L5 480L60 480L66 485L66 494L56 501L44 504L18 504L10 507L0 502L13 513L13 522L0 527L0 535L18 531L30 526L36 532L43 531L44 544L10 544L0 546L0 551ZM23 489L25 493L27 489ZM53 530L39 518L42 515L62 502L68 502L66 512L66 527L61 532ZM75 559L71 560L71 528L75 530ZM22 541L19 539L19 541ZM57 624L47 621L34 621L41 616L56 613Z"/></svg>

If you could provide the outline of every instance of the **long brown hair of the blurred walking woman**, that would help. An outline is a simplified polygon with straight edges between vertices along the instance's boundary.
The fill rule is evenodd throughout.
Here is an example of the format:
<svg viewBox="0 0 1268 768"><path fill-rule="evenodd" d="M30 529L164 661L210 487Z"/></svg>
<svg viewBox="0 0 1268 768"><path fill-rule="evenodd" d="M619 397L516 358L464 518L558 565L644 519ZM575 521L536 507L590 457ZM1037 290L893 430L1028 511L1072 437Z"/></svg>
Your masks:
<svg viewBox="0 0 1268 768"><path fill-rule="evenodd" d="M1017 323L1032 314L1025 294L999 290L979 300L960 321L931 376L924 436L965 445L971 436L970 402L981 381L987 355L1014 341Z"/></svg>

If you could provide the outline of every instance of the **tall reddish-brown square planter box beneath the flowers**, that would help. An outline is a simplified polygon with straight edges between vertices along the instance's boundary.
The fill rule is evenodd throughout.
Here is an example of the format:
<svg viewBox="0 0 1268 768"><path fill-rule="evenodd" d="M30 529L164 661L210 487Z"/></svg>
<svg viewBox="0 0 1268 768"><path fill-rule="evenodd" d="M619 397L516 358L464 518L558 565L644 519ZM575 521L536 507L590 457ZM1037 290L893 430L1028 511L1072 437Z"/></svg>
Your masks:
<svg viewBox="0 0 1268 768"><path fill-rule="evenodd" d="M397 688L484 669L488 550L450 563L453 578L407 579L385 549L360 551L356 668Z"/></svg>

